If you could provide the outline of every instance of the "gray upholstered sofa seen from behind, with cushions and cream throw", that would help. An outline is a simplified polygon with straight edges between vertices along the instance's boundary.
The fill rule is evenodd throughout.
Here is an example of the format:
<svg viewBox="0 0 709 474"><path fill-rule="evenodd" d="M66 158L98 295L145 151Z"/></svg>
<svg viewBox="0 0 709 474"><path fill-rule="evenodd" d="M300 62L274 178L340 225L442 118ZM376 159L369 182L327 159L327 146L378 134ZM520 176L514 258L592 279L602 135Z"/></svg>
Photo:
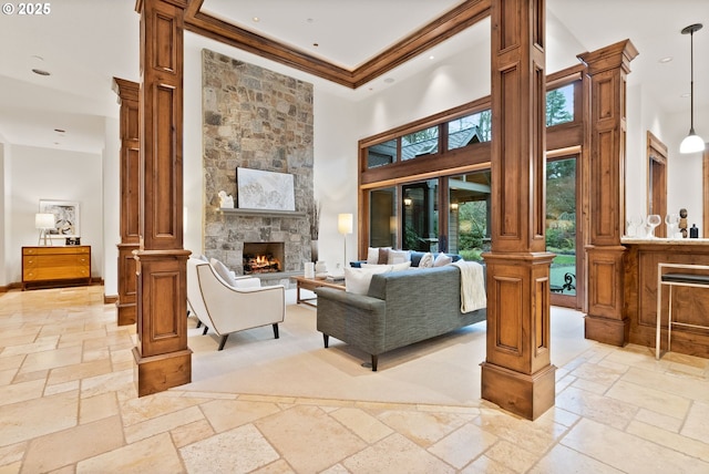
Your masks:
<svg viewBox="0 0 709 474"><path fill-rule="evenodd" d="M461 312L461 272L454 265L373 275L368 295L317 288L317 329L379 354L485 320L486 309Z"/></svg>

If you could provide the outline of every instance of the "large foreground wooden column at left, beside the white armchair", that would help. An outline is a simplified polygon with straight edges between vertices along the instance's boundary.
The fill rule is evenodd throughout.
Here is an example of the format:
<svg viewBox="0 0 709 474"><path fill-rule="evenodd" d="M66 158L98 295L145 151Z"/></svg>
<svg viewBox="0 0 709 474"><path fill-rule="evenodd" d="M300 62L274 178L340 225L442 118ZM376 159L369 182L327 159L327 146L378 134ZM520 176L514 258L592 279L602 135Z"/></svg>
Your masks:
<svg viewBox="0 0 709 474"><path fill-rule="evenodd" d="M192 381L183 249L183 12L186 0L138 0L141 159L138 396Z"/></svg>

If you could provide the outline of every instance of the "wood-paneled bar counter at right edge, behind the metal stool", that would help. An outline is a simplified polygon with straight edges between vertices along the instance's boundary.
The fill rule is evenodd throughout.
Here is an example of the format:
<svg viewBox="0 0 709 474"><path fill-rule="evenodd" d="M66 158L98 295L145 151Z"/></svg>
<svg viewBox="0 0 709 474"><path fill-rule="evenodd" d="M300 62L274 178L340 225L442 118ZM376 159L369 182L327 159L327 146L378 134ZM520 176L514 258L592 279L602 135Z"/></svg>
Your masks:
<svg viewBox="0 0 709 474"><path fill-rule="evenodd" d="M628 342L655 348L657 315L657 265L709 265L709 239L623 238L624 317L628 321ZM701 272L682 270L682 272ZM667 346L668 288L662 289L662 333ZM675 288L672 320L709 326L709 289ZM709 331L697 328L672 329L672 352L709 358Z"/></svg>

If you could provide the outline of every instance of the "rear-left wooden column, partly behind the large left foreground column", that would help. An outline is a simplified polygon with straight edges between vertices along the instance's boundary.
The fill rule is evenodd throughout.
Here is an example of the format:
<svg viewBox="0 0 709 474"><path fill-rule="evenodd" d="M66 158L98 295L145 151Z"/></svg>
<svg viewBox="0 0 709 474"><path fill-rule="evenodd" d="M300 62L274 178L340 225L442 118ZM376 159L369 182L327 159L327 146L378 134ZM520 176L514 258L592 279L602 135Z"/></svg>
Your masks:
<svg viewBox="0 0 709 474"><path fill-rule="evenodd" d="M119 326L136 321L136 277L133 250L137 250L140 235L141 159L140 103L141 84L113 78L113 90L121 104L121 243L119 248Z"/></svg>

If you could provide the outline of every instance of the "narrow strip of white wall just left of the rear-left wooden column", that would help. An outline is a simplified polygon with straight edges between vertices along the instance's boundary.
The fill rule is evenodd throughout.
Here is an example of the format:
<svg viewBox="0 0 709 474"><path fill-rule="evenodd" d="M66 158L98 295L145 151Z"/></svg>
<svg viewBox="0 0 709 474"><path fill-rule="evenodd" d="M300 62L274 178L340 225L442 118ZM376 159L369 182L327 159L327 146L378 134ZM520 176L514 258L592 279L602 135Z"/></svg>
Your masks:
<svg viewBox="0 0 709 474"><path fill-rule="evenodd" d="M103 293L119 295L119 248L121 241L121 137L117 118L106 118L103 150Z"/></svg>

